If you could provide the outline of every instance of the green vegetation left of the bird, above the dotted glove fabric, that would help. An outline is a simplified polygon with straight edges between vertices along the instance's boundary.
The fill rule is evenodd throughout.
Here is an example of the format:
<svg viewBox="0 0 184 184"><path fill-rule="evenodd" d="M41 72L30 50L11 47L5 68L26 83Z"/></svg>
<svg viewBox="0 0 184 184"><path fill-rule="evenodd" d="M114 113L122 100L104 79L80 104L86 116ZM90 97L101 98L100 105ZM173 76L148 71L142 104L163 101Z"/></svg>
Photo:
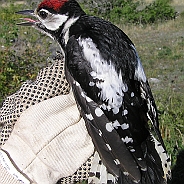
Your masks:
<svg viewBox="0 0 184 184"><path fill-rule="evenodd" d="M34 79L50 54L51 42L45 41L48 38L34 29L16 25L20 16L15 12L26 8L28 5L9 1L0 7L0 103L23 81Z"/></svg>

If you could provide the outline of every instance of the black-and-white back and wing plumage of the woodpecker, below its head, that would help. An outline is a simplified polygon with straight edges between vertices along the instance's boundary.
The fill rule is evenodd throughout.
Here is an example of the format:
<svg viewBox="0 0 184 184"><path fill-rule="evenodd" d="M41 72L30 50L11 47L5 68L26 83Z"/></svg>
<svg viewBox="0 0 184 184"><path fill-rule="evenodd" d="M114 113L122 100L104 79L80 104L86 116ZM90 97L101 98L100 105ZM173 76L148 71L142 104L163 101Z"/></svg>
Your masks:
<svg viewBox="0 0 184 184"><path fill-rule="evenodd" d="M87 53L85 47L91 49L88 52L94 50L94 55L98 55L96 64L93 64L89 56L91 53ZM167 155L159 131L157 109L131 40L111 23L82 15L70 28L65 52L67 79L71 82L88 132L109 172L119 178L119 183L165 183L161 157L166 159ZM95 56L93 59L96 59ZM102 65L106 62L104 65L109 66L109 70L114 67L114 73L97 68L99 73L101 69L102 75L104 72L107 77L93 77L92 72L95 72L98 62ZM117 75L121 82L109 82L111 75ZM116 83L122 87L121 90L113 86ZM100 85L107 85L112 91L103 91ZM103 97L106 93L114 94L112 104L119 100L121 105L118 110L108 108L111 99ZM95 113L97 108L100 109L100 117ZM107 124L112 124L112 131L107 131ZM151 132L161 143L163 153L158 153ZM116 159L118 164L114 162Z"/></svg>

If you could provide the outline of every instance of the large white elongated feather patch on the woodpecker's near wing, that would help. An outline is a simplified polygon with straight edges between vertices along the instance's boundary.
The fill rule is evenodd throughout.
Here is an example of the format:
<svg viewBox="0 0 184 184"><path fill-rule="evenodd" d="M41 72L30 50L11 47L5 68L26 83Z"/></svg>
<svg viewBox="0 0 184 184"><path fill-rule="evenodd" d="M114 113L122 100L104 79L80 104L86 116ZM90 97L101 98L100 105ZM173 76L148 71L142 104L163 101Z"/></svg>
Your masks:
<svg viewBox="0 0 184 184"><path fill-rule="evenodd" d="M101 57L100 51L91 38L81 39L79 37L78 41L83 48L86 60L91 65L90 75L94 80L97 80L95 84L101 89L99 97L107 102L108 110L117 114L123 103L123 92L128 90L127 85L122 81L121 71L118 73L111 61L107 62ZM90 83L89 85L93 86L94 84Z"/></svg>

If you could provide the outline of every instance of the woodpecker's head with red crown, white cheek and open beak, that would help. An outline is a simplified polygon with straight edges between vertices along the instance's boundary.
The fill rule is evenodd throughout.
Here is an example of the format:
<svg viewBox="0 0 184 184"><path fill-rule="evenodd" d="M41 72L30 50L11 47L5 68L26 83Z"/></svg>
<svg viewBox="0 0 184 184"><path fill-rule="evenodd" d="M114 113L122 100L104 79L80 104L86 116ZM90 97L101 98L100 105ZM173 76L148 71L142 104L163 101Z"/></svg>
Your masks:
<svg viewBox="0 0 184 184"><path fill-rule="evenodd" d="M85 14L75 0L43 0L35 10L16 12L32 18L23 18L22 26L32 26L55 38L57 32L70 27L81 15ZM68 22L68 24L67 24Z"/></svg>

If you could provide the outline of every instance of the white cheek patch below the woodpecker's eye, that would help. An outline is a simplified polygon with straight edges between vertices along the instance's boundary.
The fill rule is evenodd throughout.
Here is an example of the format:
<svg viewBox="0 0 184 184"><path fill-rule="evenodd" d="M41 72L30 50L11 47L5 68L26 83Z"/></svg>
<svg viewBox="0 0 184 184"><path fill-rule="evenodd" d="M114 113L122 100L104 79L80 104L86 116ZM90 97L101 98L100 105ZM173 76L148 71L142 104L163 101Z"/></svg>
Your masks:
<svg viewBox="0 0 184 184"><path fill-rule="evenodd" d="M59 29L63 23L65 23L68 19L68 16L66 15L51 15L47 19L43 20L38 16L38 19L42 22L42 24L49 30L55 31Z"/></svg>

